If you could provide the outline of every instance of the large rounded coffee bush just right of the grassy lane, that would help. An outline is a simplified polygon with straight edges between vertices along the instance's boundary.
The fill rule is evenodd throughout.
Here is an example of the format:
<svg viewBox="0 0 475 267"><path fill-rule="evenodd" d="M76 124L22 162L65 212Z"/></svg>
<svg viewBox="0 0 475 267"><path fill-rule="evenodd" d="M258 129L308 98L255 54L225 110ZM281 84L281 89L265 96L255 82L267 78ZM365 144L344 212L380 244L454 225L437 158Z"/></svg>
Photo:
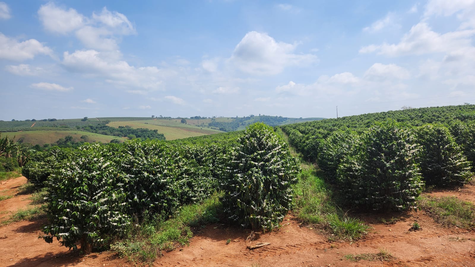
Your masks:
<svg viewBox="0 0 475 267"><path fill-rule="evenodd" d="M346 197L379 211L415 208L421 192L420 147L409 128L388 121L361 135L351 155L340 164L337 178Z"/></svg>

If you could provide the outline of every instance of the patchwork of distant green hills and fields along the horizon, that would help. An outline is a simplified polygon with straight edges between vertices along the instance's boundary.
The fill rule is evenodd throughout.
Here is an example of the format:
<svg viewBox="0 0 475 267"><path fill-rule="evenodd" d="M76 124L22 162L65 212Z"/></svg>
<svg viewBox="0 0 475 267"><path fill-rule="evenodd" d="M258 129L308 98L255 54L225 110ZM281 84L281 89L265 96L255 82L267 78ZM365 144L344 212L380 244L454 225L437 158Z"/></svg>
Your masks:
<svg viewBox="0 0 475 267"><path fill-rule="evenodd" d="M166 140L175 140L242 130L245 129L247 125L255 122L264 122L270 126L278 126L322 119L323 118L287 118L266 115L218 118L196 116L194 118L185 118L186 123L181 123L182 118L171 117L97 117L87 118L85 121L83 121L84 118L53 119L53 121L36 122L30 120L13 122L0 121L0 132L8 132L10 137L16 136L15 140L22 138L24 143L40 145L55 143L58 139L65 138L66 136L73 136L75 142L82 141L80 139L82 135L87 135L89 142L97 141L109 143L112 139L119 139L122 142L127 138L111 135L111 131L101 131L100 129L93 131L92 129L98 129L101 125L107 125L117 129L120 126L130 127L132 129L144 128L157 130L159 134L165 136ZM120 131L120 129L117 131Z"/></svg>

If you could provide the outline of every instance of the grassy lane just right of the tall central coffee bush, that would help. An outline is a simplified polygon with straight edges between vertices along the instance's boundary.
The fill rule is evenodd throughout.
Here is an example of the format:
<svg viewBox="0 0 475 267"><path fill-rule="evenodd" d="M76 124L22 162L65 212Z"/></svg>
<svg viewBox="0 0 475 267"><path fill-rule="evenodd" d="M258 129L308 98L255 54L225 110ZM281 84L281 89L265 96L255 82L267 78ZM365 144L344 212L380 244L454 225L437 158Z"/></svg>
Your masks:
<svg viewBox="0 0 475 267"><path fill-rule="evenodd" d="M302 163L299 181L294 187L294 212L298 220L320 226L329 232L329 240L358 240L371 229L359 219L342 212L332 200L332 191L316 176L314 166Z"/></svg>

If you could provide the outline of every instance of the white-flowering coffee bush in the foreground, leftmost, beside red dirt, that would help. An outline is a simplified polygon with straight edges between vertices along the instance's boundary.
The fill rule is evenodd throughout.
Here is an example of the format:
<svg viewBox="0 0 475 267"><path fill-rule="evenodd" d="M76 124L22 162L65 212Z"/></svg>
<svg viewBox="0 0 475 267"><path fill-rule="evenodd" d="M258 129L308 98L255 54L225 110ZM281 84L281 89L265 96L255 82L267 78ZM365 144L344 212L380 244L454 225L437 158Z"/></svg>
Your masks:
<svg viewBox="0 0 475 267"><path fill-rule="evenodd" d="M51 174L46 187L49 224L43 229L48 243L56 237L68 248L76 248L78 240L99 247L130 224L124 175L109 157L105 147L85 145L75 152L76 161L62 162Z"/></svg>

